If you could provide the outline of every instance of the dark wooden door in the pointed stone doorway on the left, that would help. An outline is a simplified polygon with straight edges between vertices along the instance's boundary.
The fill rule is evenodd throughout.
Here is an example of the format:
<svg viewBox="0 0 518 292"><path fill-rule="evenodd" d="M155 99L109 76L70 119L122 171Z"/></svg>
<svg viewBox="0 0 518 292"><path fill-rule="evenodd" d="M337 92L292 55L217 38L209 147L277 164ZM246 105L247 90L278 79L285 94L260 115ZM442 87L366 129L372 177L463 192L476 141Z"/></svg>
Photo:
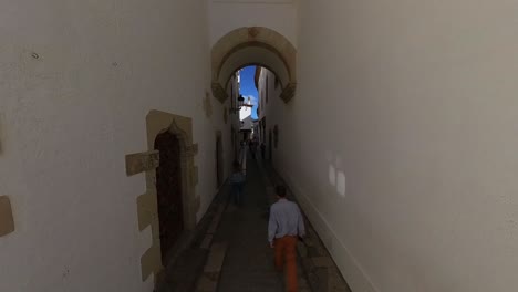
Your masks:
<svg viewBox="0 0 518 292"><path fill-rule="evenodd" d="M169 132L159 134L155 139L155 149L160 155L160 165L156 168L156 190L162 261L166 265L167 254L184 230L179 140Z"/></svg>

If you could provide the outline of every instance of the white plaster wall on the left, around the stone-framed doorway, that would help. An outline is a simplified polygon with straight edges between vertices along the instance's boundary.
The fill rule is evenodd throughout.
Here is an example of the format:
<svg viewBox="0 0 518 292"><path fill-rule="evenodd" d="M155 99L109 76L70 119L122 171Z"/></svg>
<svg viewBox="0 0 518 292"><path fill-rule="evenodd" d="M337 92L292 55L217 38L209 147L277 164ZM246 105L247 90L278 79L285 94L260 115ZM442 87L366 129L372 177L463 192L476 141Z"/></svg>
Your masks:
<svg viewBox="0 0 518 292"><path fill-rule="evenodd" d="M151 109L194 117L205 212L216 192L205 1L6 0L0 4L0 194L17 230L0 238L0 291L149 292L138 231ZM189 28L186 30L185 28ZM39 59L32 56L33 53ZM227 140L228 142L228 140ZM224 140L225 146L229 143Z"/></svg>

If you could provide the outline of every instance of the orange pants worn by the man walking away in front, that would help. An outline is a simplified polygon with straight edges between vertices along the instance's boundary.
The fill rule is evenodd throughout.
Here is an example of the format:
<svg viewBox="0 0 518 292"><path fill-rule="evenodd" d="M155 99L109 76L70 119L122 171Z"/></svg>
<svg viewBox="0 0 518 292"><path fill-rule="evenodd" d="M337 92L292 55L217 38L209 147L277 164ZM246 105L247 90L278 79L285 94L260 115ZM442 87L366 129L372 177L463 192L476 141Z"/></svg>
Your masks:
<svg viewBox="0 0 518 292"><path fill-rule="evenodd" d="M286 260L286 282L288 292L297 292L297 237L278 238L274 241L276 268L282 271Z"/></svg>

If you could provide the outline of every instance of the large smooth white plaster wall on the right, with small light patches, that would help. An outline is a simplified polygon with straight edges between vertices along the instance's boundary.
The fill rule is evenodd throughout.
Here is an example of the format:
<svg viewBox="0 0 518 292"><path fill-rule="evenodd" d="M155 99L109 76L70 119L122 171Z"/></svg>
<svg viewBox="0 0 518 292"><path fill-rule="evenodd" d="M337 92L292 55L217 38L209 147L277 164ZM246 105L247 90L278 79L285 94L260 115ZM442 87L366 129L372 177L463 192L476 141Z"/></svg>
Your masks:
<svg viewBox="0 0 518 292"><path fill-rule="evenodd" d="M301 0L278 167L353 291L517 290L517 11Z"/></svg>

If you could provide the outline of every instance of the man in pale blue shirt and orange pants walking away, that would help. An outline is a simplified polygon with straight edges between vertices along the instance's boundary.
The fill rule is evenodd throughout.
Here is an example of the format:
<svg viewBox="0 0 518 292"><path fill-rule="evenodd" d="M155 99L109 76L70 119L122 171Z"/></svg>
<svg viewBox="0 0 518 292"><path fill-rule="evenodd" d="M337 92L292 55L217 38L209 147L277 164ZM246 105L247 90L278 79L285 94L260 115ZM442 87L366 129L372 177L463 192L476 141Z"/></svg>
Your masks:
<svg viewBox="0 0 518 292"><path fill-rule="evenodd" d="M270 208L268 240L276 249L276 268L282 271L286 262L288 292L297 292L297 240L305 236L304 220L297 204L286 198L286 188L277 186L278 201Z"/></svg>

